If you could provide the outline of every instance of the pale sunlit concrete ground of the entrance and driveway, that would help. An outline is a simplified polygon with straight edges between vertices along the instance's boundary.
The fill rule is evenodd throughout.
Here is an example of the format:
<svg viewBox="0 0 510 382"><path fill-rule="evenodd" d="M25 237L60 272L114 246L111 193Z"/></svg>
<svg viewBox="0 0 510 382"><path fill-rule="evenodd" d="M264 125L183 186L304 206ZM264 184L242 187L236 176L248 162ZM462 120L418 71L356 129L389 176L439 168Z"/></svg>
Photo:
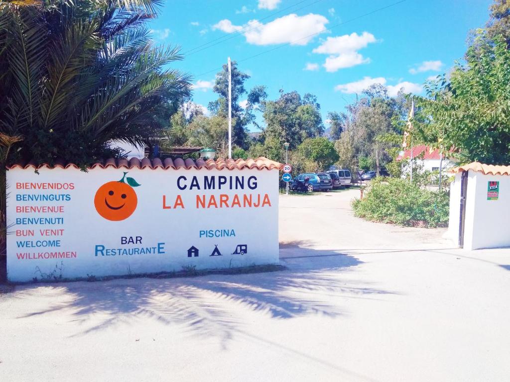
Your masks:
<svg viewBox="0 0 510 382"><path fill-rule="evenodd" d="M285 271L0 294L0 380L508 380L510 250L362 221L357 195L281 196Z"/></svg>

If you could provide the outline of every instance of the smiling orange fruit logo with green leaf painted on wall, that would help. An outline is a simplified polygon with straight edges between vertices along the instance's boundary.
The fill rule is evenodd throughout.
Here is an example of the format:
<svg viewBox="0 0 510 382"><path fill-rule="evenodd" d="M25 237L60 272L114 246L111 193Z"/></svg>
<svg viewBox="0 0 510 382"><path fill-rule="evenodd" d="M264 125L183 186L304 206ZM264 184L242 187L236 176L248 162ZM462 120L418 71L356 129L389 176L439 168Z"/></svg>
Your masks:
<svg viewBox="0 0 510 382"><path fill-rule="evenodd" d="M97 213L107 220L118 222L135 212L138 198L133 187L140 184L133 178L126 178L126 174L119 181L105 183L96 191L94 206Z"/></svg>

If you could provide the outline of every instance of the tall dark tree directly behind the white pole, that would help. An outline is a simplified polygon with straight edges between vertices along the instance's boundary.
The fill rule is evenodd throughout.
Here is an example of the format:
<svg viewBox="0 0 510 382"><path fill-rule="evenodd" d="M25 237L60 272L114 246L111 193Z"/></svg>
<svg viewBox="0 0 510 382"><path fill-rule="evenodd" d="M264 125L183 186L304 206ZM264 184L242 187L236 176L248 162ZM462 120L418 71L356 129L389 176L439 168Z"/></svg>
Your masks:
<svg viewBox="0 0 510 382"><path fill-rule="evenodd" d="M235 61L231 63L232 69L232 143L246 149L247 126L257 125L255 111L261 102L267 97L265 86L256 86L246 92L245 81L250 77L241 72ZM218 93L219 98L216 101L209 102L209 110L220 117L228 118L228 65L223 65L223 69L216 74L216 80L213 91ZM246 106L240 105L241 97L247 93Z"/></svg>

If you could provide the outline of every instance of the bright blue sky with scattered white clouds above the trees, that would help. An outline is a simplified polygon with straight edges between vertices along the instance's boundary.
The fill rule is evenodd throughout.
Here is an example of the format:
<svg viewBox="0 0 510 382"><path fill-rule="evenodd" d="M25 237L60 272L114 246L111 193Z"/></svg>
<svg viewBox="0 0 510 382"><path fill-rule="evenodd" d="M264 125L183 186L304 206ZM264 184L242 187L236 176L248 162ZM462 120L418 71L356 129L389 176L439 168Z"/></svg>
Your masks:
<svg viewBox="0 0 510 382"><path fill-rule="evenodd" d="M325 120L372 83L390 94L400 87L419 93L427 77L463 57L468 31L484 25L491 4L397 2L166 1L150 28L156 43L182 47L184 61L172 66L194 77L194 102L207 106L217 98L214 76L230 56L251 76L247 89L265 85L270 99L279 89L313 93Z"/></svg>

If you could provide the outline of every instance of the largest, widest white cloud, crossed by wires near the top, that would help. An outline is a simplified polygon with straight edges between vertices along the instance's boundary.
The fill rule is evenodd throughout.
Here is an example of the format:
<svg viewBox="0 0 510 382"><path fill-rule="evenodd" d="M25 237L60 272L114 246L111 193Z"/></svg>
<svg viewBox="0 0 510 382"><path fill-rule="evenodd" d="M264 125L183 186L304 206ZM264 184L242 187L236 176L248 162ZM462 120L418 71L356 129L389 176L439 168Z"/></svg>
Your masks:
<svg viewBox="0 0 510 382"><path fill-rule="evenodd" d="M253 45L271 45L290 43L291 45L306 45L316 33L326 30L329 21L321 15L310 13L304 16L289 14L279 17L267 24L258 20L250 20L244 26L234 25L224 19L213 25L213 30L219 29L225 33L239 32L244 29L246 42Z"/></svg>

